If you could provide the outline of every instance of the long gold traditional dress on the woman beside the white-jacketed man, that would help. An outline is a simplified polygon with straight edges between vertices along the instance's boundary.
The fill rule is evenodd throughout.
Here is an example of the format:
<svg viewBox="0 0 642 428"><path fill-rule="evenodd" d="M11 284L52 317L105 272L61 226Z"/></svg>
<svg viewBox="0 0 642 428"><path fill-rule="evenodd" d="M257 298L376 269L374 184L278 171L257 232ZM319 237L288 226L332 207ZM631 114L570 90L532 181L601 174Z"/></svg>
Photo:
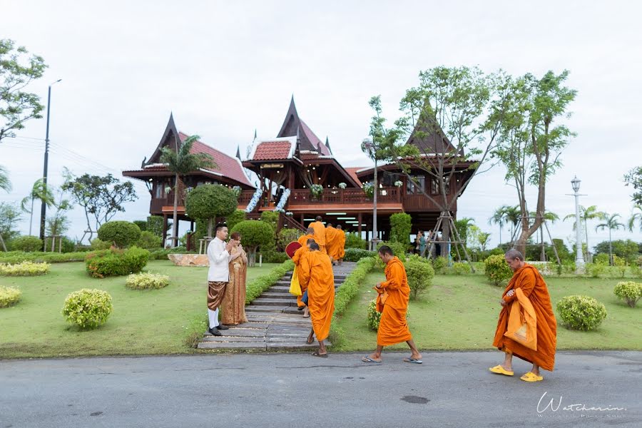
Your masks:
<svg viewBox="0 0 642 428"><path fill-rule="evenodd" d="M230 282L225 288L225 296L221 308L223 315L221 322L226 325L237 325L248 322L245 317L245 277L248 275L248 263L245 251L238 247L232 249L230 255L242 252L238 258L230 262Z"/></svg>

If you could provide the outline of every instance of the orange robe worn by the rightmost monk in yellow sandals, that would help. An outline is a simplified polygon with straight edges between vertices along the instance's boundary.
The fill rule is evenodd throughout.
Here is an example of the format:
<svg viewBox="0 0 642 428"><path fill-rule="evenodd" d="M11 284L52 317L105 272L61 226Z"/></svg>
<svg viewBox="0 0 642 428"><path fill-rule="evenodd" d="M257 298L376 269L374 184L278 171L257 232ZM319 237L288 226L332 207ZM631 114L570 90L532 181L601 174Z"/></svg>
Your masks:
<svg viewBox="0 0 642 428"><path fill-rule="evenodd" d="M531 305L535 310L537 350L531 350L519 342L504 336L508 328L512 303L517 300L516 294L509 297L506 293L516 288L521 288L524 296L531 301ZM555 348L557 345L557 321L551 306L551 296L546 287L546 282L544 282L544 278L541 277L536 267L525 264L516 270L506 286L502 298L508 305L502 307L501 312L499 312L493 346L498 347L499 350L512 352L516 357L552 372L555 365Z"/></svg>

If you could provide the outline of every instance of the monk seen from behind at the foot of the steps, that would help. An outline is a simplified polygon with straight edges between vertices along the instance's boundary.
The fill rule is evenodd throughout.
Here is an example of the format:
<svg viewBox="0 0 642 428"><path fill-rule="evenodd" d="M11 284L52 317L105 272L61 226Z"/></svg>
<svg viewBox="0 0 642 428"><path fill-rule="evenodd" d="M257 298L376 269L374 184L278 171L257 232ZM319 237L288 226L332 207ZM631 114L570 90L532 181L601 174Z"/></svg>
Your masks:
<svg viewBox="0 0 642 428"><path fill-rule="evenodd" d="M323 342L330 334L330 323L335 313L335 275L332 263L327 255L319 251L317 243L310 244L310 252L300 261L299 282L307 287L307 305L310 307L312 331L307 343L319 341L319 349L312 355L327 358L327 349Z"/></svg>

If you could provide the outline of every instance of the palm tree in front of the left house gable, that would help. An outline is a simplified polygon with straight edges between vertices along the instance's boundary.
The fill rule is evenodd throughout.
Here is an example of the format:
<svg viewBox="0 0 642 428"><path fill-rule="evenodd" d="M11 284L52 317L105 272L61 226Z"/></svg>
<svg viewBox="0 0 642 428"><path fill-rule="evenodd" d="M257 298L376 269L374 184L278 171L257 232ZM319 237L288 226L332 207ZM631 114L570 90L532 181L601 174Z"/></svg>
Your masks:
<svg viewBox="0 0 642 428"><path fill-rule="evenodd" d="M179 146L179 141L176 141L176 148L172 150L169 147L161 149L161 162L165 164L167 169L174 173L174 217L172 229L172 243L178 246L178 183L180 177L198 171L200 168L217 168L216 163L212 156L207 153L190 153L198 136L190 136L183 141Z"/></svg>

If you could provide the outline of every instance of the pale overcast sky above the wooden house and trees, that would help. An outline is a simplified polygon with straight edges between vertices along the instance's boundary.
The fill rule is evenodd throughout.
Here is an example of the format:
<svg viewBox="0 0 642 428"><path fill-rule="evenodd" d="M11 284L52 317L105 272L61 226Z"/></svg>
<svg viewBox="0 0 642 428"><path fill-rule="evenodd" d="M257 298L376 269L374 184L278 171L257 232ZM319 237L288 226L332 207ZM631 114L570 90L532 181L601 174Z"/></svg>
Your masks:
<svg viewBox="0 0 642 428"><path fill-rule="evenodd" d="M447 3L447 4L446 4ZM399 116L399 100L419 71L479 66L521 75L568 69L578 95L566 123L577 133L564 167L549 181L546 209L574 213L571 179L581 179L580 203L631 216L623 175L642 159L642 6L631 1L8 1L0 39L12 39L49 65L29 86L46 103L52 87L49 183L73 173L136 169L158 145L170 112L180 131L234 155L278 133L290 97L344 166L371 165L360 151L381 95L384 116ZM19 201L42 176L45 119L29 121L19 138L0 143L0 165ZM115 220L146 218L149 195ZM529 199L534 207L535 189ZM501 165L474 178L459 200L458 217L474 218L499 242L488 219L516 205ZM39 212L39 208L36 209ZM76 208L68 235L86 228ZM37 235L39 215L34 218ZM574 240L572 221L551 225L553 238ZM591 247L608 239L589 223ZM29 215L20 223L29 233ZM502 240L509 235L507 228ZM639 230L613 239L642 240Z"/></svg>

